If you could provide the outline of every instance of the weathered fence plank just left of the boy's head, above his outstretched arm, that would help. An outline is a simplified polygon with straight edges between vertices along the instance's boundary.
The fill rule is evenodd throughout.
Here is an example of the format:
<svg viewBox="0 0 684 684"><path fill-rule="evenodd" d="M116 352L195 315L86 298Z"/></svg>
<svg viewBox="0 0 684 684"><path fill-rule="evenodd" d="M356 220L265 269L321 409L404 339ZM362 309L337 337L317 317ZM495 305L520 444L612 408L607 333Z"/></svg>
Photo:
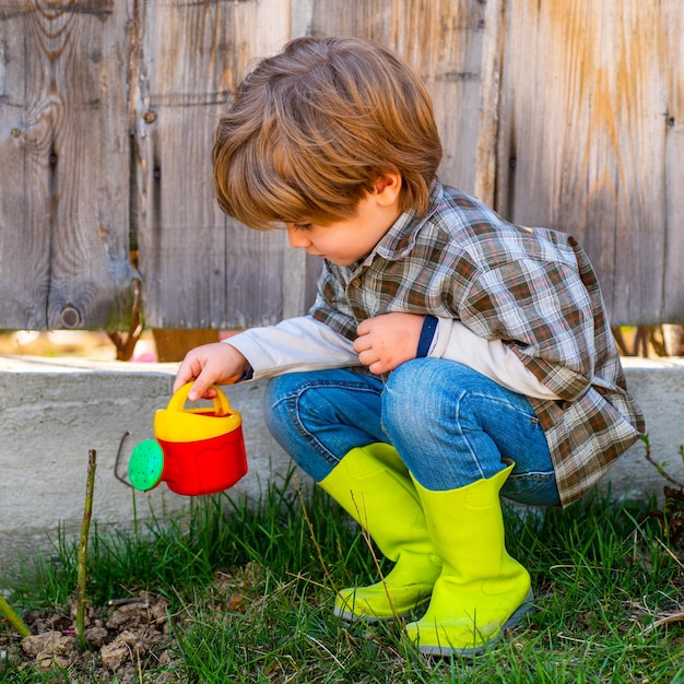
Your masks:
<svg viewBox="0 0 684 684"><path fill-rule="evenodd" d="M283 311L285 236L250 231L221 214L210 153L231 89L250 60L288 38L288 3L150 0L140 11L133 78L146 323L275 322Z"/></svg>

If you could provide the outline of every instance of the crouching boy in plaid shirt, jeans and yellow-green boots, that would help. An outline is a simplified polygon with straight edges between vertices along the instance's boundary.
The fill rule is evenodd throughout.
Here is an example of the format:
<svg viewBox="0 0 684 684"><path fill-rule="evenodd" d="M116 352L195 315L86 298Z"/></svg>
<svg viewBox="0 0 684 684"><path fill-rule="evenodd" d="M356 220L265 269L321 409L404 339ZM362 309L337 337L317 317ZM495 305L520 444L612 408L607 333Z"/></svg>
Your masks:
<svg viewBox="0 0 684 684"><path fill-rule="evenodd" d="M511 225L436 177L420 79L355 38L300 38L238 86L215 133L227 214L321 258L308 316L200 346L174 389L272 378L285 451L396 562L342 590L425 653L492 648L531 608L499 496L585 494L644 432L595 274L571 237Z"/></svg>

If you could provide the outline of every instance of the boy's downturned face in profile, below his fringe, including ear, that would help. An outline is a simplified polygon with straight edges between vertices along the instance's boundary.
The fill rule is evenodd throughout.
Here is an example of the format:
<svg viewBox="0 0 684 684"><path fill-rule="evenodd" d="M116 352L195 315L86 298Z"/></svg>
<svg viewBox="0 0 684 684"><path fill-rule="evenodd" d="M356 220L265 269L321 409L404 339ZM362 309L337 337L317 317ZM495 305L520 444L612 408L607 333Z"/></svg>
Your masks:
<svg viewBox="0 0 684 684"><path fill-rule="evenodd" d="M401 215L398 202L386 201L382 190L366 194L351 219L327 225L288 223L287 237L295 249L350 266L366 257Z"/></svg>

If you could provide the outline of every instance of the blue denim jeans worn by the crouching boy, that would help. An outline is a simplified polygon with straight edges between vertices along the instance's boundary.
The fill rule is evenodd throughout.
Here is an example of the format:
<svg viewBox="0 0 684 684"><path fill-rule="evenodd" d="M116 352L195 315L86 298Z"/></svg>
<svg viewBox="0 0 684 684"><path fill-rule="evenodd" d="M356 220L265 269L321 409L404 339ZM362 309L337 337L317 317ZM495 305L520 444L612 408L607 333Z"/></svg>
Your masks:
<svg viewBox="0 0 684 684"><path fill-rule="evenodd" d="M270 381L266 413L273 437L317 482L353 448L384 441L426 490L457 490L514 461L502 495L559 504L528 399L462 364L416 358L385 382L351 368L291 373Z"/></svg>

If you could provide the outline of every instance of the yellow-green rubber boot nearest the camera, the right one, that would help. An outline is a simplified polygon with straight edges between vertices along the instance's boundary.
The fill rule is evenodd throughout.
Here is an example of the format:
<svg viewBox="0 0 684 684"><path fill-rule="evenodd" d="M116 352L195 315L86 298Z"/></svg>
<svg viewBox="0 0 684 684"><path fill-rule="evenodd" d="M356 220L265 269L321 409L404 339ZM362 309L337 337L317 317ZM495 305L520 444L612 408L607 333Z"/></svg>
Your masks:
<svg viewBox="0 0 684 684"><path fill-rule="evenodd" d="M481 653L532 608L530 575L508 555L504 540L499 490L511 470L450 492L416 483L443 562L427 612L406 625L423 653Z"/></svg>

